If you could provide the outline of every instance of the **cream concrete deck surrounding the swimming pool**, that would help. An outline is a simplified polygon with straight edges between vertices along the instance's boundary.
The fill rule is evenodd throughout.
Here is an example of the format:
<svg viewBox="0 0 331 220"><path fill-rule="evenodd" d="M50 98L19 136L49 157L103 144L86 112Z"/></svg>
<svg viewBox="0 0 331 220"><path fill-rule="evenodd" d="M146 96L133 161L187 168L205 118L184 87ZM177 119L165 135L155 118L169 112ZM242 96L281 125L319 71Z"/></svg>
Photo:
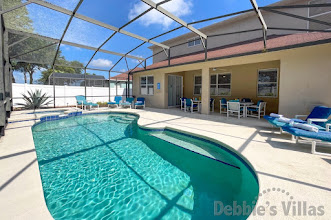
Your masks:
<svg viewBox="0 0 331 220"><path fill-rule="evenodd" d="M84 112L99 111L136 113L140 115L141 126L168 127L206 136L241 153L259 178L262 196L257 206L268 206L264 216L253 214L249 219L331 219L331 157L310 154L310 144L295 144L290 135L280 135L279 129L272 128L265 120L191 114L178 109L100 108ZM12 113L9 121L15 123L8 124L6 136L0 139L0 219L52 219L43 197L31 132L31 126L38 120L28 114L29 118L25 118L22 113ZM281 203L289 201L292 206L295 201L297 209L298 201L306 201L307 212L309 206L316 209L324 206L325 213L299 216L298 211L293 214L291 210L286 216ZM270 216L271 206L276 206L276 216Z"/></svg>

